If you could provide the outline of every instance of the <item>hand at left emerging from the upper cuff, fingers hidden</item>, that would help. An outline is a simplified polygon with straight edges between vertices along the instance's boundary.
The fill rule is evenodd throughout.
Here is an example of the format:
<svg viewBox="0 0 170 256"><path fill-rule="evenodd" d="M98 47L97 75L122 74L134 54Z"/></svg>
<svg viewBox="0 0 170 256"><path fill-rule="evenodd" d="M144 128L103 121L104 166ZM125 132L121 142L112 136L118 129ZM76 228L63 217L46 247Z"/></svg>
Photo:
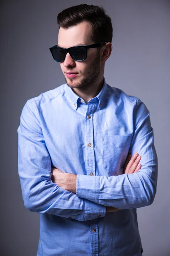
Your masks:
<svg viewBox="0 0 170 256"><path fill-rule="evenodd" d="M51 167L51 180L61 188L76 194L77 175L65 173L57 168Z"/></svg>

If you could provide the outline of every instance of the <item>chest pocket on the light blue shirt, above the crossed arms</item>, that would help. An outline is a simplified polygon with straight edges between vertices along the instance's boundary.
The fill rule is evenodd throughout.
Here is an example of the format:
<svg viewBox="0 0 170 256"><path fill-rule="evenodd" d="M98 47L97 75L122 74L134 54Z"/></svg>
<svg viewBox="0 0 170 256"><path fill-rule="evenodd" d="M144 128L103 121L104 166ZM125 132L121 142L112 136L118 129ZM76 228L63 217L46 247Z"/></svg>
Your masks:
<svg viewBox="0 0 170 256"><path fill-rule="evenodd" d="M118 173L123 168L132 136L103 135L103 168Z"/></svg>

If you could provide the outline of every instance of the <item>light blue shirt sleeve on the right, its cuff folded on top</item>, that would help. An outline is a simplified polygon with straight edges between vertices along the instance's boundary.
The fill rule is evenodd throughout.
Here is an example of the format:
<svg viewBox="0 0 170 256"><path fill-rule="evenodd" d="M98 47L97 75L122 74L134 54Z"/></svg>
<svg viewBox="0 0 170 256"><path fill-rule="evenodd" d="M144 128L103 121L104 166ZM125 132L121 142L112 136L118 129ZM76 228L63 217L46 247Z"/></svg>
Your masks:
<svg viewBox="0 0 170 256"><path fill-rule="evenodd" d="M153 140L150 112L138 99L133 113L133 137L129 152L138 152L141 169L118 176L77 175L76 195L97 204L119 209L139 208L153 203L156 195L158 160Z"/></svg>

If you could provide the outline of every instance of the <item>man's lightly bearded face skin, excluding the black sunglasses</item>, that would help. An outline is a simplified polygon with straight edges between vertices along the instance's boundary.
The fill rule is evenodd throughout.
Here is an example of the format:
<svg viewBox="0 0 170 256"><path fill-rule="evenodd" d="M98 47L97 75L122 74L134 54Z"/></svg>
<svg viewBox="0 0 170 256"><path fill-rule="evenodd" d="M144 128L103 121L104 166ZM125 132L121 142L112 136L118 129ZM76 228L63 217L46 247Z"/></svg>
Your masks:
<svg viewBox="0 0 170 256"><path fill-rule="evenodd" d="M58 35L58 46L69 48L80 44L94 44L91 40L91 30L88 22L79 23L69 29L60 27ZM89 87L99 78L101 71L100 48L87 50L85 61L75 61L67 52L65 60L60 62L65 81L71 88ZM72 78L67 77L67 72L78 73Z"/></svg>

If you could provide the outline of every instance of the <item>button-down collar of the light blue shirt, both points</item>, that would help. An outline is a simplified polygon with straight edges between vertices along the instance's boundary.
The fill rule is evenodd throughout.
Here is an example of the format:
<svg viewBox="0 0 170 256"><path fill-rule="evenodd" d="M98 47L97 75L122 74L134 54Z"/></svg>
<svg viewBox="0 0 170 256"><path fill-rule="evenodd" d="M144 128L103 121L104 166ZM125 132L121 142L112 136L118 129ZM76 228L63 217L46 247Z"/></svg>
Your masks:
<svg viewBox="0 0 170 256"><path fill-rule="evenodd" d="M67 83L64 84L64 90L65 90L66 96L68 97L69 101L71 102L71 105L75 110L77 110L79 104L81 103L85 104L85 101L82 98L80 98L76 93L74 93L74 91L71 89L71 87L68 86ZM102 108L102 104L107 94L107 91L108 91L107 84L105 81L105 77L103 77L103 87L98 93L98 95L93 98L93 100L95 99L99 100L99 103L98 103L99 109Z"/></svg>

